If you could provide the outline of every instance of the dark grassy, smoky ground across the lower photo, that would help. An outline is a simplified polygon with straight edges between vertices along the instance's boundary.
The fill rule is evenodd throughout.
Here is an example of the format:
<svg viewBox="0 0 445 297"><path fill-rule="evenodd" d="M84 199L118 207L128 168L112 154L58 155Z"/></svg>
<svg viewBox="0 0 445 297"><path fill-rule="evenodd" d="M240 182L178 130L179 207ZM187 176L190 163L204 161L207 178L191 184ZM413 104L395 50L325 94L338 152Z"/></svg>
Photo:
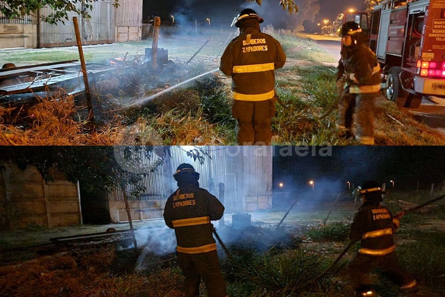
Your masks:
<svg viewBox="0 0 445 297"><path fill-rule="evenodd" d="M423 191L390 193L386 205L397 211L406 202L421 203L430 198L429 193ZM336 269L316 283L303 290L292 292L288 289L283 293L283 289L312 280L347 245L355 209L350 199L342 200L326 225L321 223L331 203L320 205L316 210L305 208L304 202L298 203L278 232L276 225L284 214L282 211L253 213L253 226L241 231L232 228L230 220L227 221L230 216L227 216L225 228L218 228L218 232L233 253L236 264L224 255L221 247L218 250L230 296L354 296L348 285L346 265L358 244ZM138 229L150 224L158 228L162 221L138 223ZM442 202L405 216L395 236L401 263L420 282L420 295L417 296L441 296L445 289L444 226L445 205ZM82 228L93 232L106 227ZM28 296L29 292L37 290L39 296L182 296L183 277L174 253L134 251L114 244L89 248L23 248L27 244L43 243L44 238L81 230L59 228L3 233L0 238L4 255L0 267L0 294ZM151 245L156 246L150 241L146 248ZM17 250L18 247L23 249ZM239 266L267 288L249 280ZM372 279L377 281L376 276ZM201 288L202 296L206 296L203 284ZM385 297L401 296L398 288L384 277L380 278L378 291Z"/></svg>

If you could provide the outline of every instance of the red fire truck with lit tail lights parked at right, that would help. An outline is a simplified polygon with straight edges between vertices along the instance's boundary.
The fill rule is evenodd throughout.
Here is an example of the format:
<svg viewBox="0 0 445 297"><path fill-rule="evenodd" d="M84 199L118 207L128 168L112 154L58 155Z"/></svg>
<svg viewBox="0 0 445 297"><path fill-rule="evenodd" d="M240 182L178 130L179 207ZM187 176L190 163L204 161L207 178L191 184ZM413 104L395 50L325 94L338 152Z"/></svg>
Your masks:
<svg viewBox="0 0 445 297"><path fill-rule="evenodd" d="M348 19L348 20L346 20ZM445 0L383 0L356 21L383 69L386 97L416 108L422 98L445 98Z"/></svg>

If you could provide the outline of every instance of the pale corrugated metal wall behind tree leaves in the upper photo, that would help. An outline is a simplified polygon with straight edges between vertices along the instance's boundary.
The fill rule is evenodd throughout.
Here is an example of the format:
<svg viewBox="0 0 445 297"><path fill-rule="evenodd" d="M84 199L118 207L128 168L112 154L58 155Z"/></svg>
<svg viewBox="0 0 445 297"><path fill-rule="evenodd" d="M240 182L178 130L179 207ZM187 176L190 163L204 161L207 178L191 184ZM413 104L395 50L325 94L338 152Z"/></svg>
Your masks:
<svg viewBox="0 0 445 297"><path fill-rule="evenodd" d="M64 23L48 24L40 22L41 47L57 47L76 45L76 35L73 16L77 16L83 45L112 43L115 41L115 8L111 2L97 1L93 3L93 10L83 8L77 2L76 8L85 11L83 15L68 14ZM42 16L48 16L53 10L47 6L41 9ZM89 16L88 16L89 15Z"/></svg>

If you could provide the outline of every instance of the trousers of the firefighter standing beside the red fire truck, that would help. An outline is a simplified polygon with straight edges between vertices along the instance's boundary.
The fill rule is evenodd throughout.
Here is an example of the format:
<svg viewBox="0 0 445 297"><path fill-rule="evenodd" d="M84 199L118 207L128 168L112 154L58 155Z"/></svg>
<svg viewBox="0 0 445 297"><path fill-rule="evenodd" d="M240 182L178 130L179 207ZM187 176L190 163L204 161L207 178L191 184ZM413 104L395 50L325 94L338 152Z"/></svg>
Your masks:
<svg viewBox="0 0 445 297"><path fill-rule="evenodd" d="M364 145L374 144L374 112L379 93L351 94L344 91L340 96L337 127ZM354 126L355 122L355 126Z"/></svg>

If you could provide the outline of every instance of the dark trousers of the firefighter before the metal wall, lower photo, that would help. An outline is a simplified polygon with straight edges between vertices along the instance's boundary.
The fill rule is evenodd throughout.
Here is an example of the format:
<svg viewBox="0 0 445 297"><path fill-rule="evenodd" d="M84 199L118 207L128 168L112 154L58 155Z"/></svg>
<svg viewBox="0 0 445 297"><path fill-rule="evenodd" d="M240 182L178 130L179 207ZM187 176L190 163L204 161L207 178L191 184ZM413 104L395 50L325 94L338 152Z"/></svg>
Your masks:
<svg viewBox="0 0 445 297"><path fill-rule="evenodd" d="M185 297L198 297L201 278L209 297L226 297L226 283L219 266L216 251L200 254L178 252L178 264L185 277Z"/></svg>

